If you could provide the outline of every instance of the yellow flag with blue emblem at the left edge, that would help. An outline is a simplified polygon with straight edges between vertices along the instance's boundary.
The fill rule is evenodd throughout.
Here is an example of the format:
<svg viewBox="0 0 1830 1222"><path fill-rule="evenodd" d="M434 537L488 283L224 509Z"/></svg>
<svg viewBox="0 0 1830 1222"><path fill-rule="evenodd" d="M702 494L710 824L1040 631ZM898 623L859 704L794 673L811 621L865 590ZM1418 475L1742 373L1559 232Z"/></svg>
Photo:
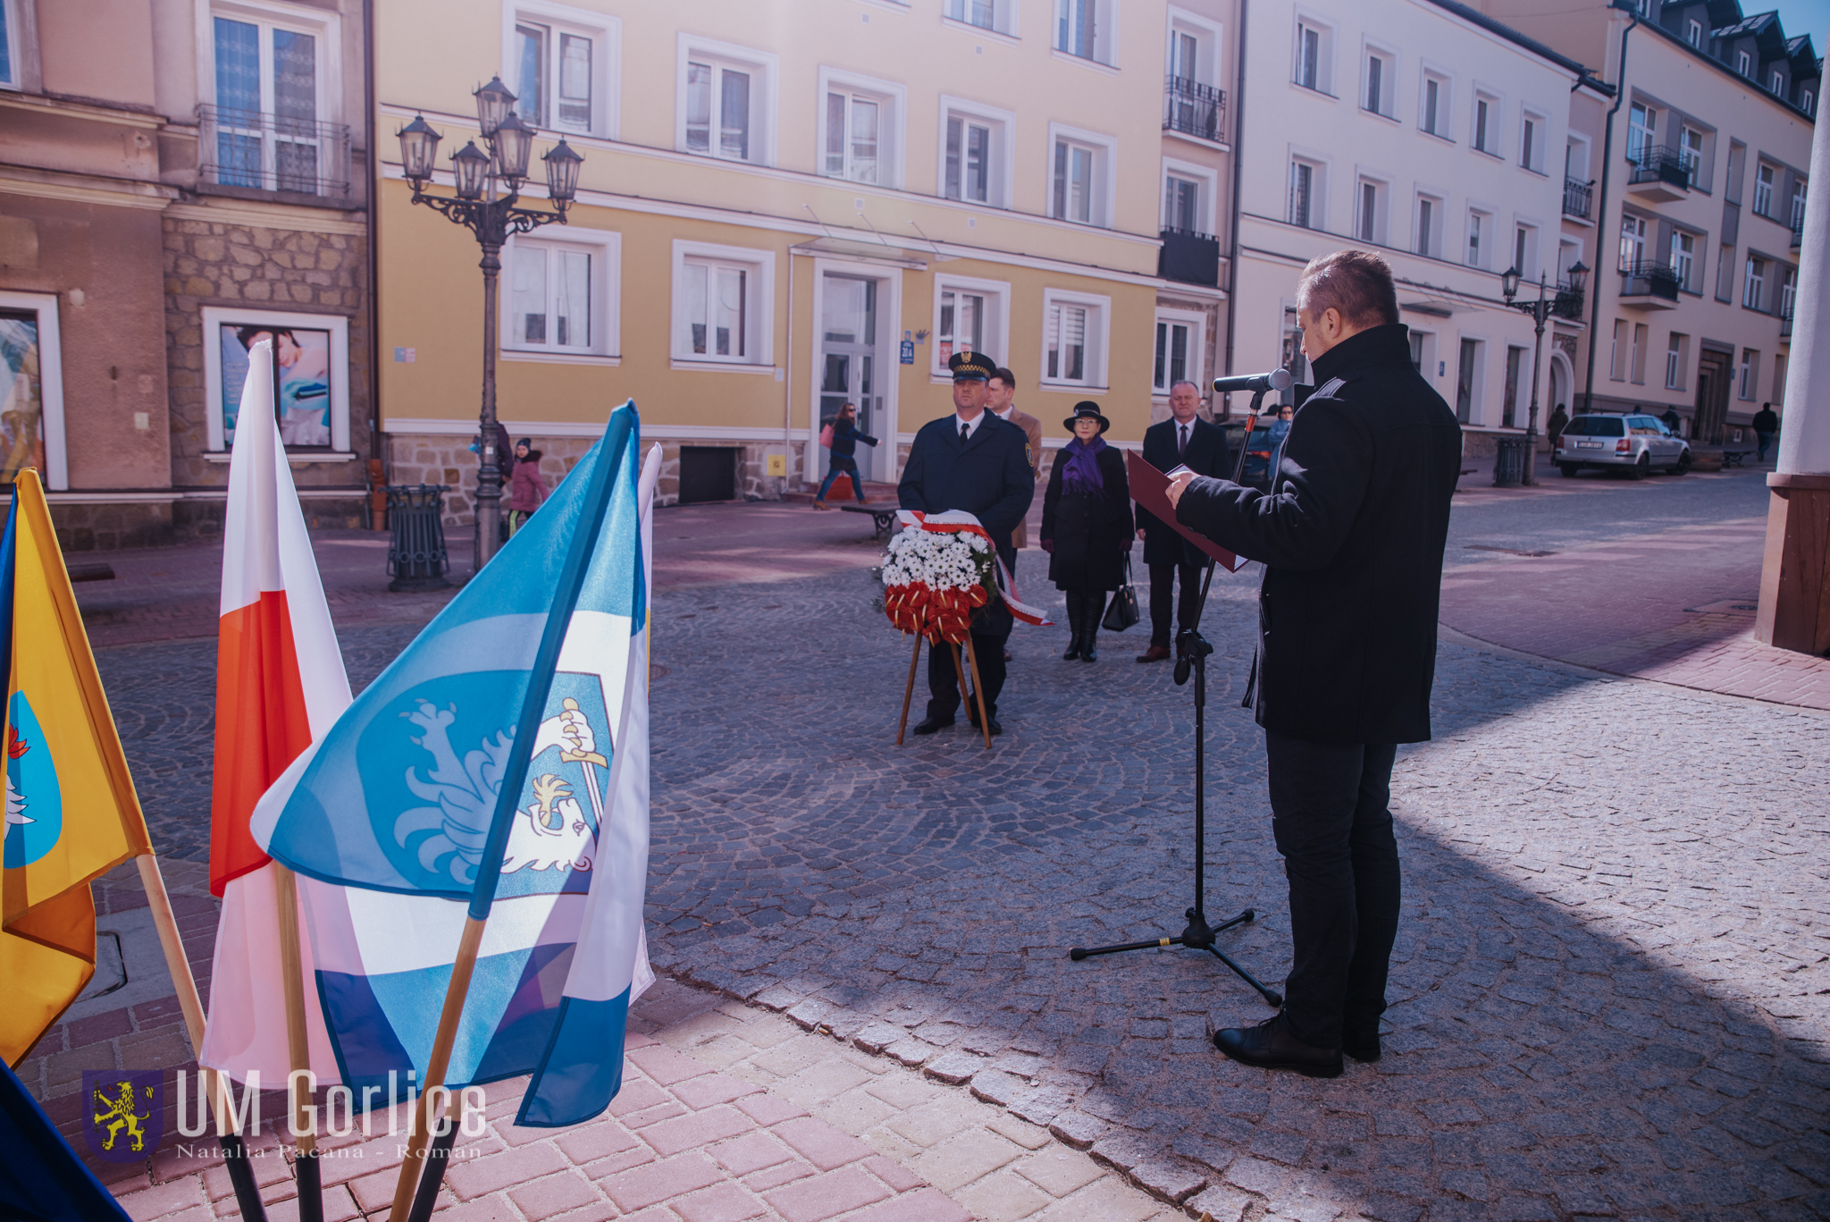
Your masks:
<svg viewBox="0 0 1830 1222"><path fill-rule="evenodd" d="M0 542L0 1057L16 1064L95 975L90 879L152 852L44 487L29 467L13 484Z"/></svg>

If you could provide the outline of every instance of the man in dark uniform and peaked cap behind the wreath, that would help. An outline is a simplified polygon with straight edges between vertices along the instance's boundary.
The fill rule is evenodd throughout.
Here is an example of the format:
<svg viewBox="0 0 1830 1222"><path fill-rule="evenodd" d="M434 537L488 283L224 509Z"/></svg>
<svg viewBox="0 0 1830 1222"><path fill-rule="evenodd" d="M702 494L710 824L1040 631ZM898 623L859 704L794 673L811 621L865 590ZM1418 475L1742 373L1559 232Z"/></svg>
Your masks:
<svg viewBox="0 0 1830 1222"><path fill-rule="evenodd" d="M983 352L961 352L948 361L948 368L953 370L953 414L930 420L915 434L897 498L904 509L964 509L974 515L1008 568L1017 559L1010 531L1036 496L1028 445L1021 429L985 410L986 383L997 372L990 357ZM1005 687L1005 638L1010 636L1010 608L997 599L972 623L985 715L994 735L1005 729L997 724L997 694ZM917 735L946 729L959 711L959 680L946 656L948 649L952 647L928 650L928 716L915 726ZM977 709L970 716L977 722Z"/></svg>

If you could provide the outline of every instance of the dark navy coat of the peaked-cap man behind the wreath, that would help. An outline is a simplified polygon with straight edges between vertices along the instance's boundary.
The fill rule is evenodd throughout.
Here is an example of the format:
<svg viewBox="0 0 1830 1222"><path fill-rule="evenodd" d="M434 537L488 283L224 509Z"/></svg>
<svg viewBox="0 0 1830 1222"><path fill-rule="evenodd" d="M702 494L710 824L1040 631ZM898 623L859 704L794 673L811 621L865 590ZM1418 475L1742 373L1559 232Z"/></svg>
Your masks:
<svg viewBox="0 0 1830 1222"><path fill-rule="evenodd" d="M972 438L959 443L959 416L930 420L915 434L897 502L904 509L946 513L964 509L979 518L997 544L1005 568L1016 568L1010 531L1028 513L1036 475L1028 465L1028 438L1016 425L985 412ZM977 630L977 625L974 625ZM1010 610L994 603L985 612L985 632L1008 632Z"/></svg>

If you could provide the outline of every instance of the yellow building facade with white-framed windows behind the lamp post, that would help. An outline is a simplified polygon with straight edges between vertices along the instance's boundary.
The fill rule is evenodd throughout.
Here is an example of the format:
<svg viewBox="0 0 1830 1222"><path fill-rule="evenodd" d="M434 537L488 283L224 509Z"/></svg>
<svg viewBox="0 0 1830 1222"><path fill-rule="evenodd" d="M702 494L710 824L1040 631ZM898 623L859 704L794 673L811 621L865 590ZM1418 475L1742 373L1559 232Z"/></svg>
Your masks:
<svg viewBox="0 0 1830 1222"><path fill-rule="evenodd" d="M1080 13L1096 22L1076 24ZM1063 15L1067 15L1063 18ZM1162 2L452 0L377 13L381 427L390 480L468 520L483 300L468 231L412 203L392 134L478 139L490 75L584 156L565 225L503 249L498 416L553 478L633 398L662 498L818 480L845 399L895 480L952 410L946 357L988 352L1017 405L1151 418ZM536 161L538 165L538 161ZM544 189L531 185L531 205ZM774 475L781 473L781 475Z"/></svg>

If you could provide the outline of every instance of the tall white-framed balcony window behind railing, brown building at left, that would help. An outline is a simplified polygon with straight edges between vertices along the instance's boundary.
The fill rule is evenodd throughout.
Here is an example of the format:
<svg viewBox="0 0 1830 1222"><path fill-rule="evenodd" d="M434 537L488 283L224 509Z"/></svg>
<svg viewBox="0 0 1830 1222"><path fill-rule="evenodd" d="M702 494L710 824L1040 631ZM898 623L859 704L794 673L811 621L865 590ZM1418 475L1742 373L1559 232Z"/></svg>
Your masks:
<svg viewBox="0 0 1830 1222"><path fill-rule="evenodd" d="M13 0L7 0L11 11ZM328 194L346 181L329 123L339 88L337 18L300 18L254 5L210 11L214 104L203 112L199 170L207 181L256 191Z"/></svg>

